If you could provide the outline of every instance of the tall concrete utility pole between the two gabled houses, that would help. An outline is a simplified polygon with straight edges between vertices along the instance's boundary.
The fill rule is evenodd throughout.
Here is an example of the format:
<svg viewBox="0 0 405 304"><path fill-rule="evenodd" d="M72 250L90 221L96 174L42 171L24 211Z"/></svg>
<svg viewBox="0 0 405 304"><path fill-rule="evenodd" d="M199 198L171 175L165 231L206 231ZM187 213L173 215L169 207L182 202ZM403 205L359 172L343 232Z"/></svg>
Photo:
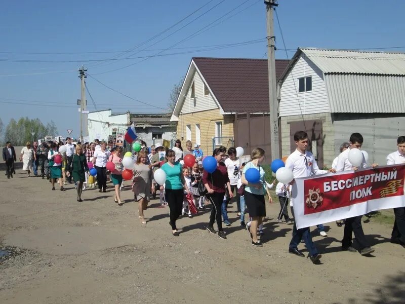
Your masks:
<svg viewBox="0 0 405 304"><path fill-rule="evenodd" d="M280 158L279 133L278 133L278 101L275 78L275 36L273 7L277 7L276 0L265 0L267 21L267 62L269 73L269 103L270 103L270 142L271 161Z"/></svg>

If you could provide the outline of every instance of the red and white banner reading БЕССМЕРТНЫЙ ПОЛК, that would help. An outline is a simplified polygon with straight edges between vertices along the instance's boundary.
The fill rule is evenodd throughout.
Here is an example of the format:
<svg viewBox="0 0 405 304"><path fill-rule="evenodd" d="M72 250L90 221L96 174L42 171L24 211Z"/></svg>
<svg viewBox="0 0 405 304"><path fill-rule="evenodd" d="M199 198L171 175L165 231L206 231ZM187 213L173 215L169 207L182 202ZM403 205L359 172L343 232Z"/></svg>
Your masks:
<svg viewBox="0 0 405 304"><path fill-rule="evenodd" d="M297 178L293 184L298 228L405 207L405 164Z"/></svg>

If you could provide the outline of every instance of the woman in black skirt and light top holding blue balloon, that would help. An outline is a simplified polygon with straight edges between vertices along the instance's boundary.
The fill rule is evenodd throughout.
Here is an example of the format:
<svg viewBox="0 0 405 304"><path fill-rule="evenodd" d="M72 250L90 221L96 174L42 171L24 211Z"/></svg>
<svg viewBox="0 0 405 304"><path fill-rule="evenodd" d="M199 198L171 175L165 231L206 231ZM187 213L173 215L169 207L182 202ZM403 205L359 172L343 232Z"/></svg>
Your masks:
<svg viewBox="0 0 405 304"><path fill-rule="evenodd" d="M262 148L256 148L252 151L251 162L247 163L242 171L242 184L245 185L245 204L248 207L249 216L252 217L252 224L250 226L250 234L252 237L252 245L263 246L260 240L257 239L257 227L263 222L263 218L266 216L266 205L264 200L264 170L260 164L264 160L264 150ZM260 172L260 180L257 183L250 183L246 177L246 171L254 168Z"/></svg>

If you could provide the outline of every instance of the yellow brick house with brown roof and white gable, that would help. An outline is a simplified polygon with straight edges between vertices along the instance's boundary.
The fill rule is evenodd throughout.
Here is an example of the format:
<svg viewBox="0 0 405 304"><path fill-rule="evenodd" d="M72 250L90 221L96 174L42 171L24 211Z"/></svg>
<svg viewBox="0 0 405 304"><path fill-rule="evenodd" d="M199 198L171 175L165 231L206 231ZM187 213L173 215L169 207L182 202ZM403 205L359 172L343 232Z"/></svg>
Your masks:
<svg viewBox="0 0 405 304"><path fill-rule="evenodd" d="M288 60L276 60L276 78ZM270 155L267 59L193 57L172 113L177 138L215 147L262 147ZM270 161L270 158L267 158Z"/></svg>

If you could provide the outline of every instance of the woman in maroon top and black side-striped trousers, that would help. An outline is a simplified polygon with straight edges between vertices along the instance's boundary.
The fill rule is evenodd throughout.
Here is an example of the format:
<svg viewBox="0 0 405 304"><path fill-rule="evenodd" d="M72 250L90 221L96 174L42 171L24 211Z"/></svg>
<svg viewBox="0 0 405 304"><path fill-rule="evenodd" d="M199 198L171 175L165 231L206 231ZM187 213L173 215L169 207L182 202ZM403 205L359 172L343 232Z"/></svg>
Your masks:
<svg viewBox="0 0 405 304"><path fill-rule="evenodd" d="M233 197L233 193L231 192L228 171L223 163L224 152L216 148L212 156L217 160L217 170L213 173L208 173L204 170L203 173L203 183L208 192L207 197L212 204L210 222L208 223L207 230L215 234L214 222L217 220L218 237L220 239L226 239L225 233L222 230L221 204L224 200L226 189L229 192L230 198Z"/></svg>

